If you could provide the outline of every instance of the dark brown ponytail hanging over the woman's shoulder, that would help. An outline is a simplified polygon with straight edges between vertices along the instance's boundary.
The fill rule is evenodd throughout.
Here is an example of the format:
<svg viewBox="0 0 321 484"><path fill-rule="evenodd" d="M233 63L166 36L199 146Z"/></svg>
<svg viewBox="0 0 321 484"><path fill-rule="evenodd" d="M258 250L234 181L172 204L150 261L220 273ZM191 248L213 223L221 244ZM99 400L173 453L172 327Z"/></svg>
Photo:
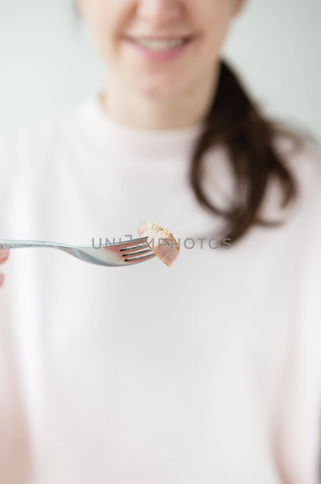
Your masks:
<svg viewBox="0 0 321 484"><path fill-rule="evenodd" d="M205 129L193 153L190 179L201 205L225 219L224 237L232 242L244 236L255 224L279 225L259 217L261 203L272 178L276 177L279 181L282 208L296 197L295 180L275 149L275 136L281 132L292 136L264 118L229 65L221 61L217 91L205 119ZM295 138L294 135L292 137ZM227 148L235 176L235 200L225 211L209 200L202 187L203 155L216 145ZM246 195L241 198L244 187Z"/></svg>

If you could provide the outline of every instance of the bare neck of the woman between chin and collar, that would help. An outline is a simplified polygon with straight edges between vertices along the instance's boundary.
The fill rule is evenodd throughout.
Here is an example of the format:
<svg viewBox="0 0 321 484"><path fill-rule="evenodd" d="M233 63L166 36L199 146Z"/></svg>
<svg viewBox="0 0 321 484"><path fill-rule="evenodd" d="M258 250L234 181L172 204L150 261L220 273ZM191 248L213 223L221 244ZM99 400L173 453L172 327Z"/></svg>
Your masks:
<svg viewBox="0 0 321 484"><path fill-rule="evenodd" d="M144 129L175 129L196 124L208 113L218 81L218 66L198 82L168 99L124 88L111 76L103 101L108 114L123 124Z"/></svg>

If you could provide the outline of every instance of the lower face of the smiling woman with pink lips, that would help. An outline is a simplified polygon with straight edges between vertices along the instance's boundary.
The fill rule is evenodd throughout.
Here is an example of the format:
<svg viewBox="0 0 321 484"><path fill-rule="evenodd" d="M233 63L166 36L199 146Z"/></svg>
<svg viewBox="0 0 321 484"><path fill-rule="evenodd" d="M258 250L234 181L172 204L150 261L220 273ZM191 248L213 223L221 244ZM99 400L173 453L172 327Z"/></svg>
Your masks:
<svg viewBox="0 0 321 484"><path fill-rule="evenodd" d="M170 99L213 73L243 0L78 0L109 76Z"/></svg>

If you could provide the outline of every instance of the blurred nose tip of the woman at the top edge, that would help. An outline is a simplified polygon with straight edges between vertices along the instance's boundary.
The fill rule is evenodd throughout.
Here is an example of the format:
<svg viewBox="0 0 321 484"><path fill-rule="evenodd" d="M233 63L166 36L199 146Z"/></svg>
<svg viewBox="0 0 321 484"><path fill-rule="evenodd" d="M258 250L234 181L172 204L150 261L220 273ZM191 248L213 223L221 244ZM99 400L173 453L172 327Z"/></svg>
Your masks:
<svg viewBox="0 0 321 484"><path fill-rule="evenodd" d="M138 15L153 24L165 24L182 17L182 0L139 0Z"/></svg>

